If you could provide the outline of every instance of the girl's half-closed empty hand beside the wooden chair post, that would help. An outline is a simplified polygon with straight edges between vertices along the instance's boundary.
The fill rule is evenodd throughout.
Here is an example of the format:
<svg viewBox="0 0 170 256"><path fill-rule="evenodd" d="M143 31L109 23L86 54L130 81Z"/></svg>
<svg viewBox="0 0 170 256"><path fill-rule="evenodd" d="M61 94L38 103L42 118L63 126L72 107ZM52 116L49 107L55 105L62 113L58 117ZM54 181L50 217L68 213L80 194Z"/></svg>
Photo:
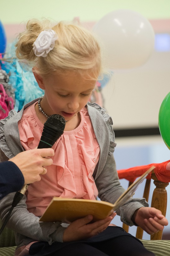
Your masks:
<svg viewBox="0 0 170 256"><path fill-rule="evenodd" d="M163 230L164 226L168 225L168 220L163 216L161 211L153 207L141 207L137 209L132 219L150 235Z"/></svg>

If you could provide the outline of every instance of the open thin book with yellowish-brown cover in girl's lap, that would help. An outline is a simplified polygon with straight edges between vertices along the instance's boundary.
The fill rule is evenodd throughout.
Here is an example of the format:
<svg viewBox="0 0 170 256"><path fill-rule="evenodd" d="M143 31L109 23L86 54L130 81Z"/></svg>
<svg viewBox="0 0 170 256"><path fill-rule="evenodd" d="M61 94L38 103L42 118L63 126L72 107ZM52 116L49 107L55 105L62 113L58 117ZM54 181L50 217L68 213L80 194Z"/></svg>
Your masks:
<svg viewBox="0 0 170 256"><path fill-rule="evenodd" d="M93 221L104 219L133 196L139 184L142 183L154 168L155 167L152 166L142 174L140 178L122 193L114 204L99 200L53 197L39 221L62 221L70 223L76 219L83 218L88 214L93 215Z"/></svg>

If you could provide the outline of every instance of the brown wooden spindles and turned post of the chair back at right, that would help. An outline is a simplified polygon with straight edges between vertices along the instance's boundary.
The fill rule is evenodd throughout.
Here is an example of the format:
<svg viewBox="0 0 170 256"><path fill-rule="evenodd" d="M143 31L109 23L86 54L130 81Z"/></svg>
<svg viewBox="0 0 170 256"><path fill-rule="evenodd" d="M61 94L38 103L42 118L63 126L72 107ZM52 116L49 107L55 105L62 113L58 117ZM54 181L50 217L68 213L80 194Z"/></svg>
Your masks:
<svg viewBox="0 0 170 256"><path fill-rule="evenodd" d="M159 181L156 178L156 175L154 173L154 170L152 171L151 178L154 180L154 184L156 188L153 191L152 194L152 201L151 201L151 207L154 207L156 209L159 209L162 214L165 216L166 215L166 210L167 210L167 190L166 187L168 186L169 183L164 183ZM143 197L148 201L149 198L149 191L150 191L150 181L149 179L146 179L145 183L145 189L143 193ZM129 182L129 186L132 183ZM123 223L123 228L128 232L129 226ZM162 233L163 230L160 230L157 233L154 233L153 235L150 236L150 240L161 240L162 239ZM137 227L136 231L136 238L142 239L143 236L143 229L140 227Z"/></svg>

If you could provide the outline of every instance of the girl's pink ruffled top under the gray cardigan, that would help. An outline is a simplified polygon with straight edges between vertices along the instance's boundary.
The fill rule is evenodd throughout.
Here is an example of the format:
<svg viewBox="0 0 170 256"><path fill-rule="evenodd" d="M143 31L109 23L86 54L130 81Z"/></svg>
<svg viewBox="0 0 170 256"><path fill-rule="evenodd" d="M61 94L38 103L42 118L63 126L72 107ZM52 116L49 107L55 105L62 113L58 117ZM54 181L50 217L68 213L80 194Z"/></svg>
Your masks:
<svg viewBox="0 0 170 256"><path fill-rule="evenodd" d="M21 144L25 150L38 146L44 125L35 112L35 104L24 110L18 122ZM86 108L80 111L81 122L72 131L64 131L53 145L53 165L41 180L30 184L27 209L41 216L53 196L95 199L98 195L93 172L99 160L99 144ZM43 168L42 168L43 171Z"/></svg>

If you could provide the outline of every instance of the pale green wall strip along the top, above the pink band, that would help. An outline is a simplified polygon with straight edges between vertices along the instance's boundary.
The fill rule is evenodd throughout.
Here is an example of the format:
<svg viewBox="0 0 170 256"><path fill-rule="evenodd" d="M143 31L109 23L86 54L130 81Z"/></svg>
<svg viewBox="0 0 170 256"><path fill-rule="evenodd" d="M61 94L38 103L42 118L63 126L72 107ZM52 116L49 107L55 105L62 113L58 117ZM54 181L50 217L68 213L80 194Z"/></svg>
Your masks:
<svg viewBox="0 0 170 256"><path fill-rule="evenodd" d="M148 19L169 19L170 0L0 0L3 24L25 22L30 18L52 18L55 21L98 21L117 9L134 10Z"/></svg>

